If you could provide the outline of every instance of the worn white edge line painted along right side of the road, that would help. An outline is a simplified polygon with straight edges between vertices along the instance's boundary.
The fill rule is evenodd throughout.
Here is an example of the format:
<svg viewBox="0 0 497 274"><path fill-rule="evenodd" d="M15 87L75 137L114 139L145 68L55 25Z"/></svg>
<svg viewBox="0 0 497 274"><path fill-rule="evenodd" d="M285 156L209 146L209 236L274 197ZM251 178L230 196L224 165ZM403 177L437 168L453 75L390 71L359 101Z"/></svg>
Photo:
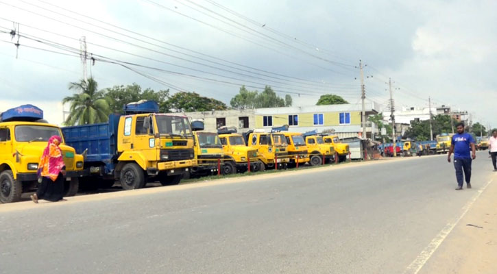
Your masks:
<svg viewBox="0 0 497 274"><path fill-rule="evenodd" d="M487 188L487 186L489 186L490 183L492 183L492 181L494 181L494 179L489 180L487 184L483 186L483 188L478 190L476 196L473 197L471 201L465 204L461 212L461 216L459 216L459 218L457 218L456 221L454 221L453 223L448 223L443 229L441 229L439 234L437 234L437 236L435 236L435 238L431 240L430 244L420 253L420 255L417 256L417 258L413 262L411 262L409 266L407 266L407 269L404 271L404 274L408 273L417 274L418 272L420 272L424 264L426 264L426 262L430 260L433 253L435 253L435 251L438 249L441 243L444 242L448 234L452 232L452 229L454 229L454 227L459 223L459 221L463 219L463 216L468 212L468 210L470 210L470 208L473 206L473 203L478 199L478 197L480 197L481 193L485 190L485 188Z"/></svg>

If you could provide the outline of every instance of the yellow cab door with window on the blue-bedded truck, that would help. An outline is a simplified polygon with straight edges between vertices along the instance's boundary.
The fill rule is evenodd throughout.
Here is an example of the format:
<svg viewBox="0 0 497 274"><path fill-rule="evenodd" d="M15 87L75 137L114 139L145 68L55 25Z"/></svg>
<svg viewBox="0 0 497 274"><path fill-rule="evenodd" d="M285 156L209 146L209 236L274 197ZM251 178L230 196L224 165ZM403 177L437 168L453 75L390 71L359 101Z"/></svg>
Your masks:
<svg viewBox="0 0 497 274"><path fill-rule="evenodd" d="M153 116L149 114L136 115L133 127L132 150L141 151L145 159L156 161L157 149L154 137L155 127ZM132 134L133 135L133 134Z"/></svg>

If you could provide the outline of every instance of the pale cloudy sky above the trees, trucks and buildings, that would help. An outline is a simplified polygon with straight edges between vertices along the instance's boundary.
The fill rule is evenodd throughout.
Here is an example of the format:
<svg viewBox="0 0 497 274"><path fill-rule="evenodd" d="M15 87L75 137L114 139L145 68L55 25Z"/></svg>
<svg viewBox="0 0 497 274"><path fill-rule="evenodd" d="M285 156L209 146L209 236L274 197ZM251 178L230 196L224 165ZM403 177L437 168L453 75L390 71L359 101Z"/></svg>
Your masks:
<svg viewBox="0 0 497 274"><path fill-rule="evenodd" d="M32 103L61 124L69 83L195 91L242 85L293 105L323 94L396 109L450 105L497 126L497 1L0 0L0 112ZM16 31L11 36L10 32ZM16 48L16 45L19 47ZM361 60L361 61L360 61Z"/></svg>

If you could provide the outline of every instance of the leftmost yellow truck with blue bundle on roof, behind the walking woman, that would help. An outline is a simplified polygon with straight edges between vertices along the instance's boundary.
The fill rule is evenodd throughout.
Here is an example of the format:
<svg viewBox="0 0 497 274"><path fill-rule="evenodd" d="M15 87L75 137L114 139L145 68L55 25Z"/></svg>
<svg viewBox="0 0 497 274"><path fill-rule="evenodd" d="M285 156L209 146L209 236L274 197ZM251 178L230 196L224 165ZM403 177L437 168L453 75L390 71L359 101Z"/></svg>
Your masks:
<svg viewBox="0 0 497 274"><path fill-rule="evenodd" d="M62 137L62 157L66 166L64 196L73 196L83 171L83 155L64 142L60 127L46 123L43 111L21 105L1 114L0 121L0 203L19 201L23 192L38 186L38 162L51 136Z"/></svg>

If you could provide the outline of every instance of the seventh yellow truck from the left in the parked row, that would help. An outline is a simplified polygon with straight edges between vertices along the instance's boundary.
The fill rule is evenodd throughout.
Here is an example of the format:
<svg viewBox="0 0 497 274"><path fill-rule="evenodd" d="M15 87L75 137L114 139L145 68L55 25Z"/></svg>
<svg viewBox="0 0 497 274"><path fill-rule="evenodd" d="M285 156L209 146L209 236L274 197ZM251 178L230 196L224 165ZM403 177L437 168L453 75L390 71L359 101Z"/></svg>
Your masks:
<svg viewBox="0 0 497 274"><path fill-rule="evenodd" d="M326 144L322 136L317 135L317 132L306 132L303 134L306 139L307 149L311 158L312 166L319 166L323 164L323 158L326 162L332 162L335 160L335 148Z"/></svg>

